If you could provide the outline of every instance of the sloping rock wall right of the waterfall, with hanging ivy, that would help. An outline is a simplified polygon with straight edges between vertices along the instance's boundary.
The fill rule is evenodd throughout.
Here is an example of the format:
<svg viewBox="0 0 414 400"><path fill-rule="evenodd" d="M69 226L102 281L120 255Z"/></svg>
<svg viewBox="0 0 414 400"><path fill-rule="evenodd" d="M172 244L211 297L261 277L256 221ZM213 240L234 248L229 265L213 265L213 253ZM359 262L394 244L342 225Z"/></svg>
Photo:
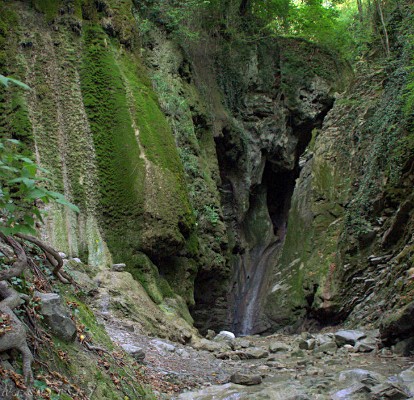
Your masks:
<svg viewBox="0 0 414 400"><path fill-rule="evenodd" d="M412 28L400 13L397 61L359 66L304 155L266 303L272 329L345 320L390 343L411 335Z"/></svg>

